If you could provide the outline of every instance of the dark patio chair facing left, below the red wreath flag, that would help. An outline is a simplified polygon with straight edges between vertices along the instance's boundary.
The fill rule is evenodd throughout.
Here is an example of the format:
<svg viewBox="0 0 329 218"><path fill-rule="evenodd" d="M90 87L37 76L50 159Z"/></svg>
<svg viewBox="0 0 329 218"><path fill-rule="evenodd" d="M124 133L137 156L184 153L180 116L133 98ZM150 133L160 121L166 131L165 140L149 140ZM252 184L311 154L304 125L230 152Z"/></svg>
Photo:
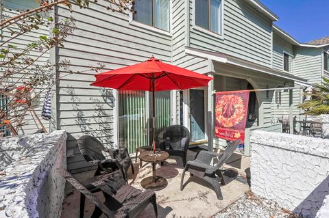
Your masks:
<svg viewBox="0 0 329 218"><path fill-rule="evenodd" d="M236 147L240 144L241 139L233 141L226 150L221 153L217 152L208 152L205 150L201 150L195 156L194 161L188 161L182 173L182 179L180 181L180 191L183 191L183 182L184 182L184 174L186 171L190 172L191 176L195 175L199 178L202 178L206 182L210 183L212 187L215 189L215 193L217 195L217 199L223 200L223 195L221 194L221 187L219 186L219 179L221 185L225 185L225 181L223 179L223 175L221 174L221 166L230 158L233 154ZM217 158L218 163L215 165L210 165L211 161ZM218 176L218 178L217 178Z"/></svg>

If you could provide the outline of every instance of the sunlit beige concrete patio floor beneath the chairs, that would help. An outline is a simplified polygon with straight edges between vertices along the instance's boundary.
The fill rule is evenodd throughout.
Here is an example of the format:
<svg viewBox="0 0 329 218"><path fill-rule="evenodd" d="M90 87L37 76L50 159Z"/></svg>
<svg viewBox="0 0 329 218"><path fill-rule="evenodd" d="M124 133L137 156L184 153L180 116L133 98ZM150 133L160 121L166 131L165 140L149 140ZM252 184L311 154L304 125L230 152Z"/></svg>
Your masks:
<svg viewBox="0 0 329 218"><path fill-rule="evenodd" d="M200 147L188 150L188 160L193 160ZM220 151L218 151L220 152ZM134 161L134 159L133 159ZM215 191L203 180L196 176L189 176L186 173L184 178L184 189L180 191L180 178L182 176L182 159L170 156L164 166L157 165L156 174L168 180L168 186L156 191L158 203L158 217L212 217L221 209L232 204L249 190L247 176L249 172L249 157L234 153L224 168L231 169L224 176L227 185L221 187L223 200L217 200ZM138 189L141 187L141 180L151 176L151 164L144 163L139 168L139 163L134 163L135 174L129 172L129 184ZM79 180L93 176L93 171L74 174ZM66 184L66 198L63 203L62 217L78 217L80 206L80 195L73 187ZM103 195L98 193L103 200ZM85 217L93 213L94 205L86 200ZM105 216L103 216L105 217ZM154 217L151 206L146 208L139 217Z"/></svg>

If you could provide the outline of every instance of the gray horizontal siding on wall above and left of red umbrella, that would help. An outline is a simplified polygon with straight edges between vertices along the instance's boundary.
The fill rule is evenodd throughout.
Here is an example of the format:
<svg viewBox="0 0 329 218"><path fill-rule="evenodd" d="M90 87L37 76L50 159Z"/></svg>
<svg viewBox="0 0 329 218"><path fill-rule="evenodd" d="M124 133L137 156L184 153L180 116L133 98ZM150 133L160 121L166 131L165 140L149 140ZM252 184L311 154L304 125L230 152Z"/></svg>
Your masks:
<svg viewBox="0 0 329 218"><path fill-rule="evenodd" d="M171 63L171 37L132 26L127 14L106 10L106 1L90 2L88 9L58 7L61 18L73 16L76 29L57 48L56 59L70 62L69 70L58 71L62 79L57 84L58 128L67 131L67 149L74 156L68 157L70 170L90 166L77 148L77 139L93 135L105 146L114 145L114 107L107 96L100 96L99 88L90 86L95 81L91 67L101 62L104 70L112 70L143 62L151 55ZM102 71L104 71L102 70Z"/></svg>

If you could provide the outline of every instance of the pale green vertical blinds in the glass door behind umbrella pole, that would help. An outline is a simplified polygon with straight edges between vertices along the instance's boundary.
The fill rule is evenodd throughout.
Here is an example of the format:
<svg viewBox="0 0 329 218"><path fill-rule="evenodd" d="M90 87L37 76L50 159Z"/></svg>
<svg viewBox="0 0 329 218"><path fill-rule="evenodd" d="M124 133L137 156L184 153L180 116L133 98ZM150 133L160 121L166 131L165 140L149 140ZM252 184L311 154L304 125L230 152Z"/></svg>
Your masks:
<svg viewBox="0 0 329 218"><path fill-rule="evenodd" d="M149 145L148 139L151 139L149 137L152 136L152 132L148 129L151 125L148 125L147 121L151 121L152 115L151 104L147 104L146 92L119 92L120 148L127 148L130 153L134 153L137 147ZM169 126L170 122L170 92L156 92L156 129Z"/></svg>

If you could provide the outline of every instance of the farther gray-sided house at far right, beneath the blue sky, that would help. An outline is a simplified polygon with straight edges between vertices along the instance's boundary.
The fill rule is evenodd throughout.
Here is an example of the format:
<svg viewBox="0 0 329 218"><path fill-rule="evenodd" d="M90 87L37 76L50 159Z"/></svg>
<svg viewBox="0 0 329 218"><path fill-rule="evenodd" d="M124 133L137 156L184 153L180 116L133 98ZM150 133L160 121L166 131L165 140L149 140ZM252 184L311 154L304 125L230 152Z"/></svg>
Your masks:
<svg viewBox="0 0 329 218"><path fill-rule="evenodd" d="M285 72L290 72L297 77L302 77L308 80L308 83L322 83L323 77L329 78L328 74L328 48L329 37L314 40L308 43L301 43L295 40L288 33L284 32L280 27L273 25L273 68L283 69ZM301 87L304 83L295 82L295 87ZM293 90L293 102L304 100L302 95L298 95L300 90ZM278 96L278 94L276 94ZM289 107L282 105L284 98L289 98L289 94L281 92L279 103L272 113L276 117L282 117L289 113ZM297 119L302 119L304 116L298 115L300 109L293 107L293 114L297 115Z"/></svg>

